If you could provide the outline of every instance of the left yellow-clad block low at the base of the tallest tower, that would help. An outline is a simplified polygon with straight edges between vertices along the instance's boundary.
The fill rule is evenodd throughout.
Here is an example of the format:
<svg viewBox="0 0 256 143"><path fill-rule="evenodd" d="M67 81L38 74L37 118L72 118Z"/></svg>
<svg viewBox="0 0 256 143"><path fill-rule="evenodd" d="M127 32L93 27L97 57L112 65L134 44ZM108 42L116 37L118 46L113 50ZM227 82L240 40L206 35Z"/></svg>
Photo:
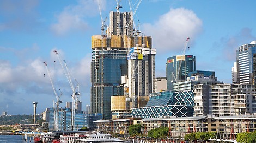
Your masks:
<svg viewBox="0 0 256 143"><path fill-rule="evenodd" d="M111 96L111 111L126 110L126 96Z"/></svg>

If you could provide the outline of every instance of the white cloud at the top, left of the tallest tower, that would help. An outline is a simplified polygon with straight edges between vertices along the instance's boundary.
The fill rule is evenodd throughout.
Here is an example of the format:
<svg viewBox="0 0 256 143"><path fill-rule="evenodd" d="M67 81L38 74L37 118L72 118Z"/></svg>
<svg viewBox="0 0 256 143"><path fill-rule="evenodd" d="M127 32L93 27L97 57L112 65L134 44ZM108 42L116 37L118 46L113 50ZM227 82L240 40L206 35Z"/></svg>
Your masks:
<svg viewBox="0 0 256 143"><path fill-rule="evenodd" d="M102 5L105 5L105 1L102 1ZM77 5L67 6L56 15L57 23L51 25L51 30L56 35L64 35L72 30L85 31L88 29L87 17L98 13L97 1L78 1Z"/></svg>

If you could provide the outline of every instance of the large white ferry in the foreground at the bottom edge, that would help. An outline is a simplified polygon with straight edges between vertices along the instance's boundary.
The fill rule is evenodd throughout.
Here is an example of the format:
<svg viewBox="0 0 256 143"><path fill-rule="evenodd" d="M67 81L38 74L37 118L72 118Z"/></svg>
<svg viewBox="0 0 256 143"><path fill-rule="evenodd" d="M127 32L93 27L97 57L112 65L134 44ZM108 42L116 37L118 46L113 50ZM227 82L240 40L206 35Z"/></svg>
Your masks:
<svg viewBox="0 0 256 143"><path fill-rule="evenodd" d="M127 142L112 137L111 134L101 134L99 132L75 133L70 135L60 135L61 143L100 143L100 142Z"/></svg>

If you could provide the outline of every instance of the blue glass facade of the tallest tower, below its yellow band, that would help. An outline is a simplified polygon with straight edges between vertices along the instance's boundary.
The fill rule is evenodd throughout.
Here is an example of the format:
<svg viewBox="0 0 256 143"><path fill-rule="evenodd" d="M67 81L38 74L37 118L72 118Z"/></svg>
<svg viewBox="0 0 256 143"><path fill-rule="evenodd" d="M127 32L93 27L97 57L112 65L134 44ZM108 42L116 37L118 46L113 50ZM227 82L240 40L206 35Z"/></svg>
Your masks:
<svg viewBox="0 0 256 143"><path fill-rule="evenodd" d="M101 94L102 66L104 85L103 99ZM103 111L103 118L111 119L111 96L124 95L124 88L120 85L121 76L126 74L127 60L125 48L104 51L103 65L102 57L99 58L99 65L97 65L96 60L92 61L91 108L93 114L102 114Z"/></svg>

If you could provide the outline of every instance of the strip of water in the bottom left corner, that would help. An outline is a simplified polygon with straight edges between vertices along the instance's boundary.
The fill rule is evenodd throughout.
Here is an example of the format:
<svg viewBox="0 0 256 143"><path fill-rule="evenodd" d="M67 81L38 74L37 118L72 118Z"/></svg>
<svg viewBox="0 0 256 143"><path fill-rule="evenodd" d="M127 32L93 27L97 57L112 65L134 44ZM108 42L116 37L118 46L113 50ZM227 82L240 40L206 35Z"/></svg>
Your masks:
<svg viewBox="0 0 256 143"><path fill-rule="evenodd" d="M22 135L0 135L0 143L25 143L29 141L30 136L28 136L28 141L24 141L24 136ZM31 143L34 143L33 137L31 137Z"/></svg>

